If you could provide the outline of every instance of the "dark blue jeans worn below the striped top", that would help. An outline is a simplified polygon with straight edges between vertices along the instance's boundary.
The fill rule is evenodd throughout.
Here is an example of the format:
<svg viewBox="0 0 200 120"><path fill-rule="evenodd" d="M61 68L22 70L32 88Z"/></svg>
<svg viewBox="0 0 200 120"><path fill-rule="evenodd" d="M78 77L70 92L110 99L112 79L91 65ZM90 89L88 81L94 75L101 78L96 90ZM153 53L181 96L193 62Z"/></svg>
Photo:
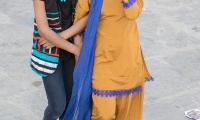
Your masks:
<svg viewBox="0 0 200 120"><path fill-rule="evenodd" d="M43 120L56 120L67 108L72 93L74 66L74 57L61 60L53 74L42 78L48 100Z"/></svg>

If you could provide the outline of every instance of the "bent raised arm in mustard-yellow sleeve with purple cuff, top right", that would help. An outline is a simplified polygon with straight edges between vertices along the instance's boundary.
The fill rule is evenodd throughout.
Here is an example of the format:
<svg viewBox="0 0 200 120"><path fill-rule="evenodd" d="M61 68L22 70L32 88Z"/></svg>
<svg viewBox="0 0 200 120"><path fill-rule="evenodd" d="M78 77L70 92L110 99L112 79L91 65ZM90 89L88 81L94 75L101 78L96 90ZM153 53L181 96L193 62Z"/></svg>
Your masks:
<svg viewBox="0 0 200 120"><path fill-rule="evenodd" d="M142 11L143 0L123 0L125 15L130 20L136 20Z"/></svg>

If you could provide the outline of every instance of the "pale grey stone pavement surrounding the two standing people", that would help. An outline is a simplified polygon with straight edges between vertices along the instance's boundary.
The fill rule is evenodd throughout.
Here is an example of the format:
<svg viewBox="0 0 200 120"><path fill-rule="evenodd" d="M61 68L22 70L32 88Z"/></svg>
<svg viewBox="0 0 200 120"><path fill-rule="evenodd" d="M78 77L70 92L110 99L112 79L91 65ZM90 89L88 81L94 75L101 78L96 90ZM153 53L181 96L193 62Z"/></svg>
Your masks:
<svg viewBox="0 0 200 120"><path fill-rule="evenodd" d="M0 0L0 21L0 120L41 120L45 92L29 67L32 0ZM155 78L143 120L188 120L184 111L200 108L200 1L145 0L138 26Z"/></svg>

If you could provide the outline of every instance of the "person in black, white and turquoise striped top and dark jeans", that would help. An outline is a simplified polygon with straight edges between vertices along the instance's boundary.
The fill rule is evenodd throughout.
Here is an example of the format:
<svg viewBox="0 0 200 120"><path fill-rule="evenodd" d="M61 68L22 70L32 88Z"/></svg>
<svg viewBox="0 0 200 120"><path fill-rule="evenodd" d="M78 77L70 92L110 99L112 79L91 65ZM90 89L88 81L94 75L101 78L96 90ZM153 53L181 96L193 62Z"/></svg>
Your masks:
<svg viewBox="0 0 200 120"><path fill-rule="evenodd" d="M48 99L43 120L56 120L71 97L75 57L81 49L81 36L74 40L70 37L85 28L87 16L69 28L76 0L33 0L33 3L35 20L30 65L42 77Z"/></svg>

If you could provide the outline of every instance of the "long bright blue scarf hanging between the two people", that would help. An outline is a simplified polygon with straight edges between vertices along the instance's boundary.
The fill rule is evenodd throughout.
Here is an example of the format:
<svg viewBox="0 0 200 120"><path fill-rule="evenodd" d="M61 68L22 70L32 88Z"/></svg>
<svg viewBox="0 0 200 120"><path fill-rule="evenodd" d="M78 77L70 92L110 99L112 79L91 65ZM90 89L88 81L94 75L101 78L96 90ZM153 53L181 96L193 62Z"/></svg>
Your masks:
<svg viewBox="0 0 200 120"><path fill-rule="evenodd" d="M102 0L91 0L88 24L84 34L79 61L74 70L74 86L66 112L60 120L90 120L92 112L92 71L96 31ZM59 98L58 98L59 99Z"/></svg>

